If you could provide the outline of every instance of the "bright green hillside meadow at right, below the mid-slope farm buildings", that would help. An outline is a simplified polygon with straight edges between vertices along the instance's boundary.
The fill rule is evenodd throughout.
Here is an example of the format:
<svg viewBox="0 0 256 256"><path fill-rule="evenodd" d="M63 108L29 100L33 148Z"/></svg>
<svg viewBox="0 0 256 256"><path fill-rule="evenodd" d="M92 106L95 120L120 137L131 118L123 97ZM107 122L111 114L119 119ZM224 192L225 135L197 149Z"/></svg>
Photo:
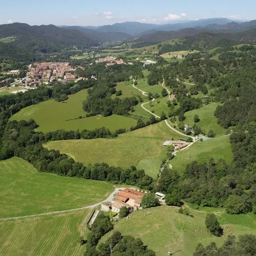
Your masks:
<svg viewBox="0 0 256 256"><path fill-rule="evenodd" d="M182 174L187 164L197 160L199 163L208 162L213 157L215 161L224 159L227 163L232 162L231 144L229 136L215 137L206 141L198 141L189 148L177 153L170 161L173 169Z"/></svg>

